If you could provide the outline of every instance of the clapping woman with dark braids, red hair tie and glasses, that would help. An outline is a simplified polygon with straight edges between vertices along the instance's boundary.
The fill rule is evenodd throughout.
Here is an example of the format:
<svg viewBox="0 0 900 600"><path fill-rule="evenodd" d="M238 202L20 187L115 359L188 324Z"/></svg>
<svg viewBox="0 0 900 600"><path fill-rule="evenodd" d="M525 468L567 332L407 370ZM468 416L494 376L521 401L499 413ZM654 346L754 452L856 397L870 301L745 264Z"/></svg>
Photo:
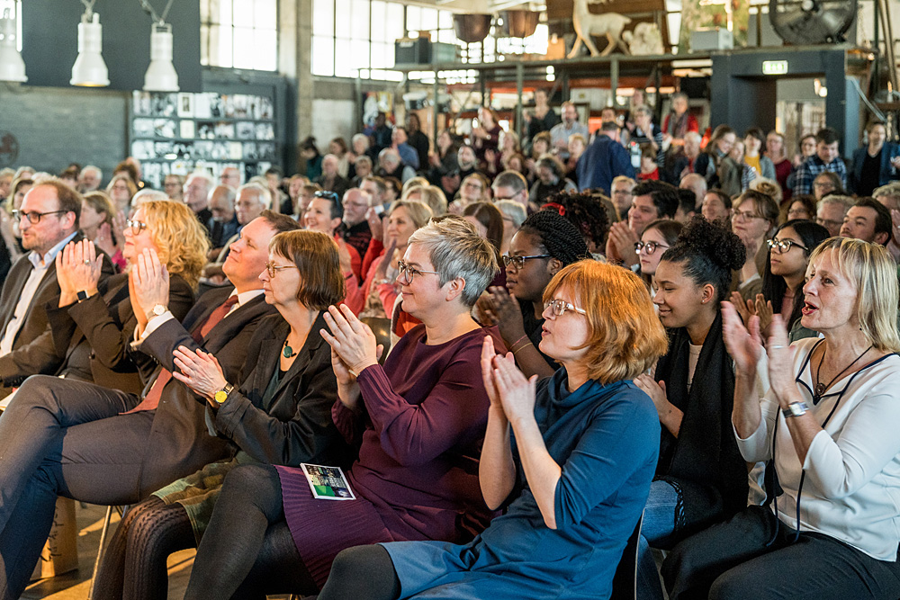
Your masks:
<svg viewBox="0 0 900 600"><path fill-rule="evenodd" d="M509 242L506 287L491 287L476 305L482 325L497 325L500 336L527 376L549 377L556 361L538 349L544 326L544 291L564 266L589 255L581 232L553 210L540 210Z"/></svg>

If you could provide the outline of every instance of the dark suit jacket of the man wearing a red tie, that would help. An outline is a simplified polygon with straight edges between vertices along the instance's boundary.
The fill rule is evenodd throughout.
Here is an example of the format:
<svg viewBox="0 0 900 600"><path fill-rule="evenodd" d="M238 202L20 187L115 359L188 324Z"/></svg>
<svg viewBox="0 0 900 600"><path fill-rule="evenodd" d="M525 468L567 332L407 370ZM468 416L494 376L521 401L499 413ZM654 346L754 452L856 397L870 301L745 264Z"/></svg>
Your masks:
<svg viewBox="0 0 900 600"><path fill-rule="evenodd" d="M197 344L189 332L202 327L211 312L228 299L231 289L206 292L197 300L184 323L169 319L140 344L141 352L149 354L162 368L175 369L172 356L175 348L184 345L192 351L201 348L214 354L228 381L240 381L239 373L247 357L250 339L260 321L275 309L266 304L262 295L236 309L223 319ZM152 377L145 394L156 381ZM149 439L141 445L150 449L144 453L139 481L139 495L145 497L166 484L189 475L212 461L228 456L225 440L209 434L205 423L206 400L175 378L166 383L153 416ZM122 432L122 434L128 434Z"/></svg>

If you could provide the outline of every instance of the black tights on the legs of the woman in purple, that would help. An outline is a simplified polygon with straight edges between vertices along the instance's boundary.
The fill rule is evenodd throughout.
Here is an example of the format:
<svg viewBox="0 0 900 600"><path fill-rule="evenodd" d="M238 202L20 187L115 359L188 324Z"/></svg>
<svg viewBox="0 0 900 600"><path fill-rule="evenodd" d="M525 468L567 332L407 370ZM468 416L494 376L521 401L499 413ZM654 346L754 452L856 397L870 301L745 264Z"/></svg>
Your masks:
<svg viewBox="0 0 900 600"><path fill-rule="evenodd" d="M318 591L284 521L275 467L231 470L197 550L184 600Z"/></svg>

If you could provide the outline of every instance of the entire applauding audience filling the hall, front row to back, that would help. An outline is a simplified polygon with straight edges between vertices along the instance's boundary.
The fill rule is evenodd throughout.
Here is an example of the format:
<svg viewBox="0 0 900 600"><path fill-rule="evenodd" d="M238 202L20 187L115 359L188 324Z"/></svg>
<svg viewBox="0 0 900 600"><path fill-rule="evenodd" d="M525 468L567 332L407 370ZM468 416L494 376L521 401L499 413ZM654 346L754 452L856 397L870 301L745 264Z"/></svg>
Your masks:
<svg viewBox="0 0 900 600"><path fill-rule="evenodd" d="M900 149L672 107L0 172L0 597L63 496L130 506L110 600L608 598L629 539L642 599L896 600Z"/></svg>

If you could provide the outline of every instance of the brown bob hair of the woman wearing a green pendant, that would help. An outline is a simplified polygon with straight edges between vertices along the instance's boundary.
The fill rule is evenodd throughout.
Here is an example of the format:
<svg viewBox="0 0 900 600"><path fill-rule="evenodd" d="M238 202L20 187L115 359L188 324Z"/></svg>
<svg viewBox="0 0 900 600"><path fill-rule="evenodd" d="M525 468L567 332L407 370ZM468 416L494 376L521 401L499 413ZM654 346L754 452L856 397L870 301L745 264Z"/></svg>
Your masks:
<svg viewBox="0 0 900 600"><path fill-rule="evenodd" d="M307 309L326 310L347 296L338 244L328 234L311 229L284 231L269 242L269 254L283 256L297 266L297 300Z"/></svg>

